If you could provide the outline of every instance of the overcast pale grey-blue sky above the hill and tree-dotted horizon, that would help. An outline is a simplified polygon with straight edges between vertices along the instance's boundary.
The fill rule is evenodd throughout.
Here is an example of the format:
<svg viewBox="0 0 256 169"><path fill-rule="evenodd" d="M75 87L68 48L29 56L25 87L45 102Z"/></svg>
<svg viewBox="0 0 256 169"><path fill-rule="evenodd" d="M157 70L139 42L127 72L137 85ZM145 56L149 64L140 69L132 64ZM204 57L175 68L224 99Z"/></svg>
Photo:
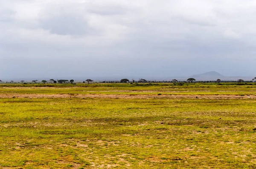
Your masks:
<svg viewBox="0 0 256 169"><path fill-rule="evenodd" d="M0 0L0 79L256 76L256 0Z"/></svg>

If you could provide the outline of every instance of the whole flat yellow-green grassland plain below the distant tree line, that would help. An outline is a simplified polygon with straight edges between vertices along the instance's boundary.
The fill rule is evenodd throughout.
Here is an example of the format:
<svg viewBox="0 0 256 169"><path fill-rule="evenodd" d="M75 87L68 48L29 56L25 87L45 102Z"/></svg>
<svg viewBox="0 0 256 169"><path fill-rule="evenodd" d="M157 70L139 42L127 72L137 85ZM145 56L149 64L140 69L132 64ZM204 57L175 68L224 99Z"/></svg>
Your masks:
<svg viewBox="0 0 256 169"><path fill-rule="evenodd" d="M253 83L52 85L0 85L0 168L256 168Z"/></svg>

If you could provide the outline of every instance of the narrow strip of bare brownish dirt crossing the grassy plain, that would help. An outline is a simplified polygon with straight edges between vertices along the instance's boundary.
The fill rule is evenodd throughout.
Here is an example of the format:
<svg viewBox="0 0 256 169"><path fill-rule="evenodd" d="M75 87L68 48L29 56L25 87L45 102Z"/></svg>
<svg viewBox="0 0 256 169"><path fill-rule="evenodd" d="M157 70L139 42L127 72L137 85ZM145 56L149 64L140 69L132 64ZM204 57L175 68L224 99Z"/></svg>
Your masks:
<svg viewBox="0 0 256 169"><path fill-rule="evenodd" d="M151 98L191 98L191 99L256 99L255 95L157 95L157 94L0 94L0 98L109 98L109 99L151 99Z"/></svg>

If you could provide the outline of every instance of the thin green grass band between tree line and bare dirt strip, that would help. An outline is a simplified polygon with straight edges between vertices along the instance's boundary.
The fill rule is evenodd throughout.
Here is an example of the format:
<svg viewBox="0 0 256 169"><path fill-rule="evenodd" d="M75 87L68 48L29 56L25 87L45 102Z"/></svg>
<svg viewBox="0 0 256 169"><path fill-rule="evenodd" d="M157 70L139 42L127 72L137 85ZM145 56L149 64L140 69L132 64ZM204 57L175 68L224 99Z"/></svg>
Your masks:
<svg viewBox="0 0 256 169"><path fill-rule="evenodd" d="M168 83L156 84L0 84L0 94L167 94L167 95L238 95L256 94L256 83ZM229 84L229 85L228 85ZM47 87L47 86L51 87ZM148 86L149 85L149 86ZM36 87L38 86L38 87Z"/></svg>

